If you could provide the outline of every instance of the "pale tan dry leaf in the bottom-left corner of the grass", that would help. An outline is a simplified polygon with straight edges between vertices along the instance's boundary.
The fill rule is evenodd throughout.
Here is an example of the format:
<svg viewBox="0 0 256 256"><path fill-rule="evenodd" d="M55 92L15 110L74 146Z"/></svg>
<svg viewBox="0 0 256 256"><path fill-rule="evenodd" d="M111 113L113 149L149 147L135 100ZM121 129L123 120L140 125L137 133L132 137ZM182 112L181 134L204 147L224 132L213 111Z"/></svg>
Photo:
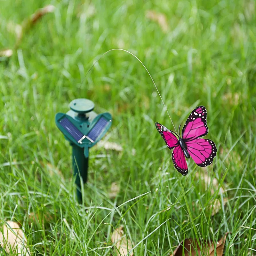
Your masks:
<svg viewBox="0 0 256 256"><path fill-rule="evenodd" d="M27 238L18 223L6 221L0 231L0 245L7 253L29 256Z"/></svg>

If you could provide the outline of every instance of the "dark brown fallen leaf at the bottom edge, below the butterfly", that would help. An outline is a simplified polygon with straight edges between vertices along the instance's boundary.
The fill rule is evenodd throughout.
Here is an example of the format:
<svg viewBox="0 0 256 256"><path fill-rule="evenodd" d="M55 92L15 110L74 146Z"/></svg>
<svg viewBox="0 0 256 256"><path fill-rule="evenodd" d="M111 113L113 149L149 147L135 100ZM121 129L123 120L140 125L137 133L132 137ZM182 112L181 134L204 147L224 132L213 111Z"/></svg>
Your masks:
<svg viewBox="0 0 256 256"><path fill-rule="evenodd" d="M202 248L202 252L200 250L200 246L198 244L198 242L196 241L196 239L193 238L187 238L184 241L182 241L180 243L180 245L175 249L175 251L173 252L173 254L171 254L170 256L195 256L195 255L205 255L205 256L222 256L223 255L223 251L224 251L224 246L225 246L225 242L226 242L226 237L227 234L225 234L225 236L223 236L216 244L216 254L214 252L214 243L211 241L205 241L201 243L201 248ZM183 249L183 243L184 243L184 249ZM183 250L184 250L184 254L183 254Z"/></svg>

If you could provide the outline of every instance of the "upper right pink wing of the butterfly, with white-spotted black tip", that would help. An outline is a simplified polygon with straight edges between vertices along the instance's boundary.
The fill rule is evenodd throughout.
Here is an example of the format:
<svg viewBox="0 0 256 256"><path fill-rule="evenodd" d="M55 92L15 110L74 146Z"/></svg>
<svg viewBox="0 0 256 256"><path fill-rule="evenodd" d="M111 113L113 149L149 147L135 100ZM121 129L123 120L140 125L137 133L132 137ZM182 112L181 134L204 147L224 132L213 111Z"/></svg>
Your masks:
<svg viewBox="0 0 256 256"><path fill-rule="evenodd" d="M206 122L207 111L204 106L196 107L182 129L182 139L187 144L187 141L202 137L208 133Z"/></svg>

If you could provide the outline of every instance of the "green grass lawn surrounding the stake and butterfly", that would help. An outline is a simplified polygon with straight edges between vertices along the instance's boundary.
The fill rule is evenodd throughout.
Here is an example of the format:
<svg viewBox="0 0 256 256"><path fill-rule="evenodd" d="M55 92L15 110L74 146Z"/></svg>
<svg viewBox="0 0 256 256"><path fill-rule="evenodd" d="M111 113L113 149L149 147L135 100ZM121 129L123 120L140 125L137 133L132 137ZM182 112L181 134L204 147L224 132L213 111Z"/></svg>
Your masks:
<svg viewBox="0 0 256 256"><path fill-rule="evenodd" d="M10 21L46 4L55 12L29 30L9 63L0 62L1 219L23 226L36 255L116 255L114 228L124 225L135 246L168 219L135 255L167 256L185 238L216 242L226 232L226 256L255 255L255 1L93 1L88 15L87 1L0 0L0 49L15 44ZM147 10L166 15L167 33ZM207 108L207 138L218 148L209 168L190 159L188 176L174 169L154 123L172 124L131 55L108 53L84 80L94 60L119 47L148 68L176 129L194 107ZM75 98L111 112L107 136L124 148L92 148L84 205L76 201L71 148L54 122ZM196 177L204 171L218 190ZM112 182L121 185L116 199L108 195ZM222 204L213 217L212 200ZM31 212L39 215L32 223Z"/></svg>

